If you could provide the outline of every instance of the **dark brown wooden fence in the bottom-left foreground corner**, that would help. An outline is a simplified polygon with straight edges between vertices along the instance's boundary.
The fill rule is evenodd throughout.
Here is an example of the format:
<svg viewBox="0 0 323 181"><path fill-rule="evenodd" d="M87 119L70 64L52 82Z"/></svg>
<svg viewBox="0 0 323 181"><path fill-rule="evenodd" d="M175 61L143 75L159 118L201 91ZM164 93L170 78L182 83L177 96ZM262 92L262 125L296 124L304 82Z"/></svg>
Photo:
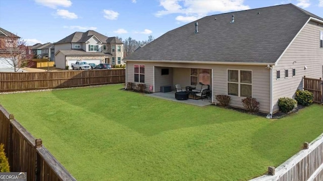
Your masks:
<svg viewBox="0 0 323 181"><path fill-rule="evenodd" d="M10 171L27 172L27 180L76 180L12 114L0 105L0 143L5 144Z"/></svg>

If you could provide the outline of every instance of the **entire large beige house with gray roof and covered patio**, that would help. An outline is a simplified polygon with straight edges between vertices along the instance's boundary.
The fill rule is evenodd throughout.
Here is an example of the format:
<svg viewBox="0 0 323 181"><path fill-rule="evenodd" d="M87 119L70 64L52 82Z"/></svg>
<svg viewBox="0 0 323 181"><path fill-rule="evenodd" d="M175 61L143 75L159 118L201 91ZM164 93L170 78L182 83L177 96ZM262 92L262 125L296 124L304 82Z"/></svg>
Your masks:
<svg viewBox="0 0 323 181"><path fill-rule="evenodd" d="M322 41L323 19L292 4L207 16L127 56L126 82L151 92L209 84L213 103L225 94L231 106L243 107L251 96L273 114L279 98L303 88L303 76L322 77Z"/></svg>

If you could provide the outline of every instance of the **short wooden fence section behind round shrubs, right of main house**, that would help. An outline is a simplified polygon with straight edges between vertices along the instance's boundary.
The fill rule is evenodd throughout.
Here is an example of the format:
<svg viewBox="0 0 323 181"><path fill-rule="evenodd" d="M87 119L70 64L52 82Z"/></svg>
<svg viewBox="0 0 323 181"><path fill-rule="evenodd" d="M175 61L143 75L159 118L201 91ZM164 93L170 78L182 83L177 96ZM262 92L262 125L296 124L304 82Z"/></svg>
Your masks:
<svg viewBox="0 0 323 181"><path fill-rule="evenodd" d="M308 90L309 92L313 93L313 102L323 103L323 81L321 78L311 79L304 76L303 84L304 90Z"/></svg>

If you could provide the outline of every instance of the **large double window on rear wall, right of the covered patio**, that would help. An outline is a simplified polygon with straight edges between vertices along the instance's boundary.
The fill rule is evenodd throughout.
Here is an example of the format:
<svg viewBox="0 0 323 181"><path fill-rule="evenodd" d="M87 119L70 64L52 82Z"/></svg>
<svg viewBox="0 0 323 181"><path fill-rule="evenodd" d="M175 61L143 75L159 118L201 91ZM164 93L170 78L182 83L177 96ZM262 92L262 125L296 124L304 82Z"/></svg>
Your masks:
<svg viewBox="0 0 323 181"><path fill-rule="evenodd" d="M252 97L252 71L228 70L228 95Z"/></svg>

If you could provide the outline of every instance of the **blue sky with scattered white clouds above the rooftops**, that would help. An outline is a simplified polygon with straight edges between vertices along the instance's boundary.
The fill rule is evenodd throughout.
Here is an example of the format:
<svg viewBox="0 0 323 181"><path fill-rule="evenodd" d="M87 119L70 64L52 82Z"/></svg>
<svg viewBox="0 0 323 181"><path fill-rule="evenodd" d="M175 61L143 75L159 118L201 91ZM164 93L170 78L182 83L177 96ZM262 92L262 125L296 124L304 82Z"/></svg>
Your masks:
<svg viewBox="0 0 323 181"><path fill-rule="evenodd" d="M0 0L0 27L28 45L57 42L89 29L141 41L207 15L289 3L323 17L323 0Z"/></svg>

